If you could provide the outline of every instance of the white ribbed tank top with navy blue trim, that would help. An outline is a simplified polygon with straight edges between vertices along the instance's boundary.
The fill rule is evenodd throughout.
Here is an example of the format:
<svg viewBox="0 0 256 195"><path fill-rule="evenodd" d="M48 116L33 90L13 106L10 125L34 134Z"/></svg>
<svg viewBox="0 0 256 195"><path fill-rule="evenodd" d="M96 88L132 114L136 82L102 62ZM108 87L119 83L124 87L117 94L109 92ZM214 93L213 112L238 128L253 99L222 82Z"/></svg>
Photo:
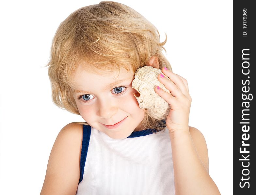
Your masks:
<svg viewBox="0 0 256 195"><path fill-rule="evenodd" d="M83 128L77 195L175 194L167 128L136 131L125 139Z"/></svg>

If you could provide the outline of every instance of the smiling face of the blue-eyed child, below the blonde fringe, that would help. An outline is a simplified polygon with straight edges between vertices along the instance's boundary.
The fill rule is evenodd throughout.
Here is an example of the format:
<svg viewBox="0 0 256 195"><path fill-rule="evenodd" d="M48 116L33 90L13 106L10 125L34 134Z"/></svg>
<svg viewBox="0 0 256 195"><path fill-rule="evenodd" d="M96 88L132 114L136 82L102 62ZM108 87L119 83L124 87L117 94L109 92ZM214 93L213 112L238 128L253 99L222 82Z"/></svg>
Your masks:
<svg viewBox="0 0 256 195"><path fill-rule="evenodd" d="M73 97L83 119L93 128L114 139L124 139L143 130L145 114L132 88L134 72L124 68L97 74L78 67L73 78Z"/></svg>

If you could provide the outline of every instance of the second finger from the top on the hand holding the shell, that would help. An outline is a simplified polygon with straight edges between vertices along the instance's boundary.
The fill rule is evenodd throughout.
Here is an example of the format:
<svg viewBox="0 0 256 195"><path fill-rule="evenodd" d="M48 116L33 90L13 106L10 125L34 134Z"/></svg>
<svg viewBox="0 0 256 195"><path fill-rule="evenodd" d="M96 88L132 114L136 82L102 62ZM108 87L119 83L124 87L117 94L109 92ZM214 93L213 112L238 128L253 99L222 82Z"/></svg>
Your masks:
<svg viewBox="0 0 256 195"><path fill-rule="evenodd" d="M163 74L159 74L157 76L157 78L170 91L171 95L173 95L174 97L177 97L177 98L181 98L182 96L184 96L184 94L182 93L182 91L178 87L178 85L175 85L172 81L170 81Z"/></svg>

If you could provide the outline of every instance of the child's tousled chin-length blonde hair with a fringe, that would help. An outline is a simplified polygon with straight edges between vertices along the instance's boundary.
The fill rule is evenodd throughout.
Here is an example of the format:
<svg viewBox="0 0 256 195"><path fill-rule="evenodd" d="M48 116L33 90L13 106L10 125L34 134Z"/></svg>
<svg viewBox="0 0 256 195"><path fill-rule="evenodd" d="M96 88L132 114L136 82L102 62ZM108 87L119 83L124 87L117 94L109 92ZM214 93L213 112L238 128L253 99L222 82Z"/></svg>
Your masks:
<svg viewBox="0 0 256 195"><path fill-rule="evenodd" d="M79 114L72 96L72 78L79 64L87 62L90 71L133 71L146 66L155 56L160 68L170 63L162 53L158 30L134 9L120 3L103 1L74 11L59 25L53 38L47 64L53 102ZM165 50L165 49L164 49ZM164 121L153 119L144 109L141 124L145 129L162 130ZM79 122L80 123L80 122ZM86 124L84 122L81 122Z"/></svg>

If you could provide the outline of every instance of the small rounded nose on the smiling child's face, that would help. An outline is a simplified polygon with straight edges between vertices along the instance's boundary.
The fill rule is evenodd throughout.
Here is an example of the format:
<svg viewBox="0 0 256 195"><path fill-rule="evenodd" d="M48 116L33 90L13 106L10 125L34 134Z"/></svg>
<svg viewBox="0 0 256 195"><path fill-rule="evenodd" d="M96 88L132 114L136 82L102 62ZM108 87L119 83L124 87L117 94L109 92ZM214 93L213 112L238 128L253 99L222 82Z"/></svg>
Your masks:
<svg viewBox="0 0 256 195"><path fill-rule="evenodd" d="M100 101L98 106L100 118L109 119L118 111L117 106L112 101Z"/></svg>

